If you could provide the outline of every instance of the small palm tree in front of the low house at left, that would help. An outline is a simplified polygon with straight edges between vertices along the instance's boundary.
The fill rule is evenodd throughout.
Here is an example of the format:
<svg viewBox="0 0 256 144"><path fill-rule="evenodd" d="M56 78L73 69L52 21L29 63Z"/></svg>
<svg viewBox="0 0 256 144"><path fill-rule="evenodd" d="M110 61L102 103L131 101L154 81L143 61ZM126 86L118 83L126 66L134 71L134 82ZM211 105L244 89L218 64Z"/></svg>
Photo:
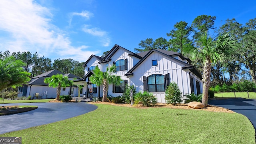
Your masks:
<svg viewBox="0 0 256 144"><path fill-rule="evenodd" d="M51 76L50 78L45 78L44 83L49 84L49 87L53 88L57 87L57 96L54 100L60 100L60 90L61 87L66 87L72 85L73 81L68 80L67 76L63 76L62 74L56 74Z"/></svg>

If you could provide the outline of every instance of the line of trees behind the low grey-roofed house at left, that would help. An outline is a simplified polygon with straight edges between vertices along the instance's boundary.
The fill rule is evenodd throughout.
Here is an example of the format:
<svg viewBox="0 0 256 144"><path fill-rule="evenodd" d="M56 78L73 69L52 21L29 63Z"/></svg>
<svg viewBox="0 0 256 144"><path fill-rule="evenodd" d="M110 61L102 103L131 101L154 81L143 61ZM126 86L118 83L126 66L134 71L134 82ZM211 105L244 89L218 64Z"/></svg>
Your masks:
<svg viewBox="0 0 256 144"><path fill-rule="evenodd" d="M26 64L23 68L26 72L31 73L31 78L54 69L64 74L72 73L80 78L84 76L84 62L80 63L71 58L64 60L57 59L52 62L50 58L39 56L37 52L34 54L31 52L13 52L11 54L9 50L0 52L0 60L9 56L14 56L16 60L22 60Z"/></svg>

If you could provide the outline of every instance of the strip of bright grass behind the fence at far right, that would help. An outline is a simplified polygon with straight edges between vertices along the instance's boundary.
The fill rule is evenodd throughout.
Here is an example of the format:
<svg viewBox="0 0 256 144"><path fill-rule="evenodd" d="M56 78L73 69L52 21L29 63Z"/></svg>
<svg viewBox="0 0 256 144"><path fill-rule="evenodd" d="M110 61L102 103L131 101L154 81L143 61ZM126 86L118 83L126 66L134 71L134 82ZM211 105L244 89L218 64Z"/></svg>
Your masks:
<svg viewBox="0 0 256 144"><path fill-rule="evenodd" d="M248 98L248 94L249 94L249 98L256 98L256 92L236 92L236 98ZM235 98L235 94L234 92L219 92L219 93L215 93L214 97L217 98Z"/></svg>

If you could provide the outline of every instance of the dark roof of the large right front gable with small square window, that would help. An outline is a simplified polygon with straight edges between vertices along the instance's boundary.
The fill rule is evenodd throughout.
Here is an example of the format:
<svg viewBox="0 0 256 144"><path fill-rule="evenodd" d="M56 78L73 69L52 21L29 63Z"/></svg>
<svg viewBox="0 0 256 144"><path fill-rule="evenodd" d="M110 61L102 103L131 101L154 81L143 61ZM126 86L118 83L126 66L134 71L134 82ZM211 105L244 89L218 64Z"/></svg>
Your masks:
<svg viewBox="0 0 256 144"><path fill-rule="evenodd" d="M176 58L173 58L172 56L179 54L178 52L172 52L172 51L168 51L168 50L161 50L161 49L152 49L150 51L146 52L142 52L142 54L144 55L144 57L134 66L132 67L126 74L124 74L125 76L129 76L129 75L133 75L133 71L144 61L148 58L148 56L150 56L150 54L152 54L153 52L157 52L160 53L164 56L169 57L170 59L176 61L176 62L180 62L182 64L184 64L184 67L182 67L183 69L192 69L194 68L194 66L187 64L186 62L182 62L181 60L178 60ZM140 54L142 56L142 54ZM192 67L192 68L191 68ZM198 72L198 70L196 70L194 68L194 74L197 74L198 78L202 78L202 75L200 74L200 72Z"/></svg>

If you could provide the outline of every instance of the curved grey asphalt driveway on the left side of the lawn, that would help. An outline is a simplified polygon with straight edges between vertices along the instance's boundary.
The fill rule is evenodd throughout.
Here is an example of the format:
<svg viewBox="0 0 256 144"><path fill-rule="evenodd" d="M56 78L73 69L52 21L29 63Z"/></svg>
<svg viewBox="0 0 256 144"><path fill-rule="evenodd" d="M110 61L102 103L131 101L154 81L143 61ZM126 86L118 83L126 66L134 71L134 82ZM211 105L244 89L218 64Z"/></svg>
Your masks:
<svg viewBox="0 0 256 144"><path fill-rule="evenodd" d="M98 108L84 102L1 104L1 106L13 105L38 106L38 108L29 112L0 116L0 134L65 120Z"/></svg>

